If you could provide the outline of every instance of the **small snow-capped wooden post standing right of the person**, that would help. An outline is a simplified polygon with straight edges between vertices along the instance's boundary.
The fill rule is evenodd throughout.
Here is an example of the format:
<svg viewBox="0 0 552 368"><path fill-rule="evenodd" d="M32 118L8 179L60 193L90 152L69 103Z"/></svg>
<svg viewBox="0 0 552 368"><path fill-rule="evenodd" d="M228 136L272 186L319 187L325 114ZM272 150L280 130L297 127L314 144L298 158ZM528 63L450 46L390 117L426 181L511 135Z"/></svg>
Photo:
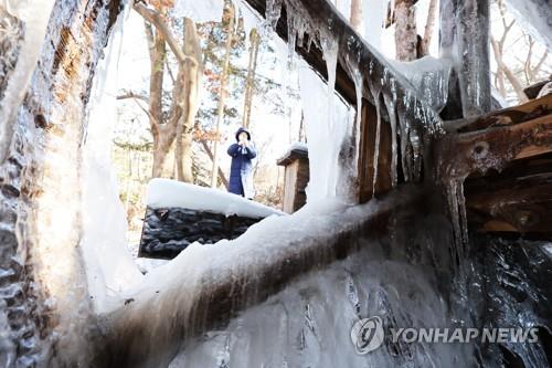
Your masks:
<svg viewBox="0 0 552 368"><path fill-rule="evenodd" d="M294 213L307 202L305 189L309 182L309 157L307 147L295 147L278 159L285 167L284 201L282 210Z"/></svg>

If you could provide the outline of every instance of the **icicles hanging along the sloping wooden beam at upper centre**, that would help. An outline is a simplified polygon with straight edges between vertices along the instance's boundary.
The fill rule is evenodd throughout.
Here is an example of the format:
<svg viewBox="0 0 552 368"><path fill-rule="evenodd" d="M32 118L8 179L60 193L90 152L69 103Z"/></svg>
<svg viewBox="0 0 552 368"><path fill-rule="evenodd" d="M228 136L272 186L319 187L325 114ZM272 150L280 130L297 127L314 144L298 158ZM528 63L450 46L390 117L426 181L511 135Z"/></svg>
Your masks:
<svg viewBox="0 0 552 368"><path fill-rule="evenodd" d="M372 50L369 44L364 43L363 45L364 50L371 52L367 55L362 54L358 39L351 38L346 42L338 40L327 24L316 24L316 19L309 15L300 1L267 0L266 20L270 27L276 27L283 6L286 7L287 13L289 59L294 59L296 45L309 50L315 43L321 49L328 70L328 94L332 95L338 57L342 57L341 64L346 65L346 72L354 82L357 112L362 111L364 96L376 108L378 126L373 161L378 162L379 160L381 124L383 119L386 119L391 126L392 136L399 135L400 137L399 143L396 139L392 139L391 178L393 187L397 183L399 149L405 181L418 181L424 159L424 143L429 135L443 132L443 124L438 115L418 98L410 83L402 78L383 56L376 56L376 51ZM347 51L340 50L343 45L348 48ZM357 57L351 57L351 55ZM333 103L331 98L329 101L328 109L331 116ZM355 138L353 141L357 143L357 156L359 154L360 119L361 114L359 113L351 132ZM374 167L376 170L378 165ZM376 180L378 172L374 172L374 187Z"/></svg>

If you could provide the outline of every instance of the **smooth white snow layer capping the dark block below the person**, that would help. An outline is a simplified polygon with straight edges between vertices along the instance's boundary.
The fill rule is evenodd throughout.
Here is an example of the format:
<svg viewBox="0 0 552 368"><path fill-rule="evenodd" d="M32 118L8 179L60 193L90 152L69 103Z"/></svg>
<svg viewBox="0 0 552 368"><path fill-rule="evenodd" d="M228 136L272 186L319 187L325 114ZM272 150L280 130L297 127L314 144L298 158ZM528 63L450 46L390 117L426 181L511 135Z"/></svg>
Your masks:
<svg viewBox="0 0 552 368"><path fill-rule="evenodd" d="M152 179L149 182L146 203L151 208L179 207L251 218L285 214L272 207L223 190L160 178Z"/></svg>

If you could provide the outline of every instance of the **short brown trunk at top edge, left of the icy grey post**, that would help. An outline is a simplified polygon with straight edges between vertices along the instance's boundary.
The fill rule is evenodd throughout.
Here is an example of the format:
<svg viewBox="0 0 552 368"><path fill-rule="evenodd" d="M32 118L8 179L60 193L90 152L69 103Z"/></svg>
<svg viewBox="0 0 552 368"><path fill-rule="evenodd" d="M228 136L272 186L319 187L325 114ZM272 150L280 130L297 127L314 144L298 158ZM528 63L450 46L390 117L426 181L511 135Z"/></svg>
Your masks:
<svg viewBox="0 0 552 368"><path fill-rule="evenodd" d="M414 0L397 0L395 3L395 51L400 61L417 59L416 11Z"/></svg>

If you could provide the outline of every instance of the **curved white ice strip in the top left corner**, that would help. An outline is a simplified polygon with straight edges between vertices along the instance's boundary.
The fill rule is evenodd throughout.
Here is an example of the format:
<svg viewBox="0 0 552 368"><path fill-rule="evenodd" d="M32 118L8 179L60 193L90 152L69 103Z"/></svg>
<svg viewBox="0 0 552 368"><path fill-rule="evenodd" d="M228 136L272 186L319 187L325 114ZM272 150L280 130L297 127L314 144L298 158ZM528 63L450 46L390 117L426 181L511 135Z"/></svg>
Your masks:
<svg viewBox="0 0 552 368"><path fill-rule="evenodd" d="M13 135L13 124L18 107L29 87L31 76L42 50L53 0L0 0L0 7L24 24L24 40L4 96L0 102L0 162Z"/></svg>

